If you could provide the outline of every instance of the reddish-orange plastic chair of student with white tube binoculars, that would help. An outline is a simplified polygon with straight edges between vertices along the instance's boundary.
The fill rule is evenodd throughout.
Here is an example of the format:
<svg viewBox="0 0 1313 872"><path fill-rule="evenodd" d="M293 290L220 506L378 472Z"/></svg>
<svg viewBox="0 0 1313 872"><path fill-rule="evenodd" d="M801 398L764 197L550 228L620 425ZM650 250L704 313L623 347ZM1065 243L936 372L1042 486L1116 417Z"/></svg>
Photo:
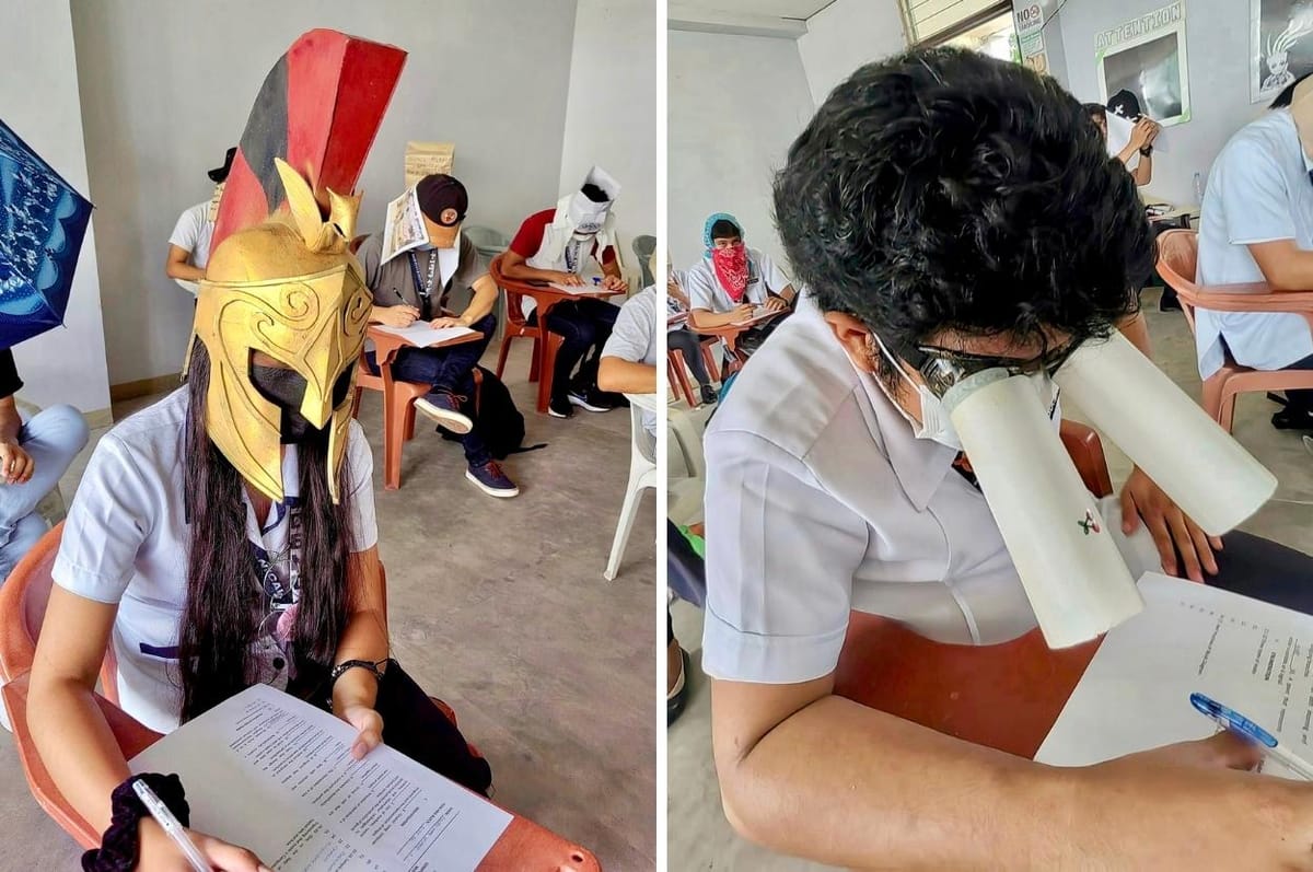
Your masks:
<svg viewBox="0 0 1313 872"><path fill-rule="evenodd" d="M1061 435L1090 492L1109 495L1099 435L1066 420ZM974 745L1032 758L1099 641L1056 651L1035 629L1002 645L945 645L890 619L852 612L834 692Z"/></svg>

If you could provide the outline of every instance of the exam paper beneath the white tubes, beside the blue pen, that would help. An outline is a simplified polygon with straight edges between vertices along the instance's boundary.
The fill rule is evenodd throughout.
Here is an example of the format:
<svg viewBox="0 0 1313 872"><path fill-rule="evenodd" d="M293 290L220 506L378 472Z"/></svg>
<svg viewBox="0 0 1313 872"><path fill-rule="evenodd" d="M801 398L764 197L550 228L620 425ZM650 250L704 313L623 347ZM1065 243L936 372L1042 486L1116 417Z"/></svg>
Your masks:
<svg viewBox="0 0 1313 872"><path fill-rule="evenodd" d="M1087 766L1212 735L1196 691L1313 758L1313 616L1157 573L1140 592L1145 611L1103 638L1036 760Z"/></svg>

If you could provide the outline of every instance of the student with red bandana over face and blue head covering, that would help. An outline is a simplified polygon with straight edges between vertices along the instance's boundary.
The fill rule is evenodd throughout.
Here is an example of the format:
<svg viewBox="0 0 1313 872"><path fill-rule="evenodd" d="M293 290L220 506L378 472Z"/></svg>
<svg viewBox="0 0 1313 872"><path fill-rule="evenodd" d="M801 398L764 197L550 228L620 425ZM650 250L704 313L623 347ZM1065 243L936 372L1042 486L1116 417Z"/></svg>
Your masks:
<svg viewBox="0 0 1313 872"><path fill-rule="evenodd" d="M771 311L792 309L797 292L769 255L743 244L743 225L718 211L702 229L706 255L688 271L689 326L693 330L723 327L752 318L762 306ZM739 348L751 353L780 323L780 318L744 331Z"/></svg>

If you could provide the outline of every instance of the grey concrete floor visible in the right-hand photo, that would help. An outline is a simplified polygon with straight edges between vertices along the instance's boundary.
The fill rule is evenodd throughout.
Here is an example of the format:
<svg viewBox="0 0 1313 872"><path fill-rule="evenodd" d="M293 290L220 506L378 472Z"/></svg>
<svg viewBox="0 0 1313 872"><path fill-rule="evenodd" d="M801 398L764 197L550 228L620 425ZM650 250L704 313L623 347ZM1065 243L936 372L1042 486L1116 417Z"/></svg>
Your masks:
<svg viewBox="0 0 1313 872"><path fill-rule="evenodd" d="M1180 313L1159 313L1158 292L1144 295L1154 360L1191 397L1200 395L1195 343ZM1245 394L1236 411L1236 437L1272 473L1280 485L1270 502L1242 528L1258 536L1313 553L1313 457L1300 433L1274 429L1268 419L1276 406L1260 394ZM1079 410L1064 404L1067 418ZM1104 441L1115 486L1130 473L1130 462ZM674 508L671 510L674 517ZM830 867L771 854L738 838L721 812L712 764L710 695L701 662L702 615L685 603L672 608L675 634L692 655L692 691L683 717L668 730L667 802L671 869L693 872L804 872Z"/></svg>

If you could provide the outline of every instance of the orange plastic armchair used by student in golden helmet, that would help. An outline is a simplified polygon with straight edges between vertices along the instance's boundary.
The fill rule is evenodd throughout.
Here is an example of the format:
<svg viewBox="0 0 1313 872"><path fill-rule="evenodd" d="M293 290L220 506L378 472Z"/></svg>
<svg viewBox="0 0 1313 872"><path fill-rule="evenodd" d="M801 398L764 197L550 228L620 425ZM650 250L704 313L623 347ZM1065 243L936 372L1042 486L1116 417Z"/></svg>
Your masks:
<svg viewBox="0 0 1313 872"><path fill-rule="evenodd" d="M18 759L22 762L32 795L46 814L81 847L92 848L100 844L100 833L92 829L55 787L54 779L50 777L37 752L32 730L28 729L28 678L41 622L46 616L46 603L53 583L50 570L59 552L62 534L63 524L46 533L0 587L0 674L4 678L0 696L4 697L9 713ZM386 574L383 590L385 592L387 590ZM102 680L104 675L102 671ZM113 682L108 686L112 687ZM104 696L97 695L96 703L105 714L105 721L123 756L131 759L161 738L159 733L147 729ZM450 709L445 705L442 708L454 722ZM477 752L473 746L471 750ZM601 865L586 848L516 814L478 868L479 872L517 872L525 868L600 872Z"/></svg>

